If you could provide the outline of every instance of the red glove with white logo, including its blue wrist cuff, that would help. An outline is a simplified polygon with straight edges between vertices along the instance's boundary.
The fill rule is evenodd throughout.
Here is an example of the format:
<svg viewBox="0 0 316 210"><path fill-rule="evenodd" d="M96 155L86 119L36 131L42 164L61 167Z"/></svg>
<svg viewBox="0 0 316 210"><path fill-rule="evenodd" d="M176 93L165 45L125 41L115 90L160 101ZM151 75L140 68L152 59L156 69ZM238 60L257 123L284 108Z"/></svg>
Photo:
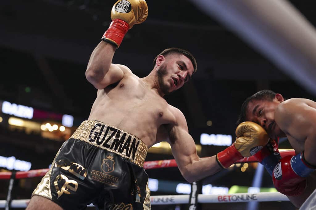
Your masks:
<svg viewBox="0 0 316 210"><path fill-rule="evenodd" d="M273 170L273 184L284 195L300 195L306 189L306 177L315 169L315 166L306 162L304 151L295 156L283 157Z"/></svg>

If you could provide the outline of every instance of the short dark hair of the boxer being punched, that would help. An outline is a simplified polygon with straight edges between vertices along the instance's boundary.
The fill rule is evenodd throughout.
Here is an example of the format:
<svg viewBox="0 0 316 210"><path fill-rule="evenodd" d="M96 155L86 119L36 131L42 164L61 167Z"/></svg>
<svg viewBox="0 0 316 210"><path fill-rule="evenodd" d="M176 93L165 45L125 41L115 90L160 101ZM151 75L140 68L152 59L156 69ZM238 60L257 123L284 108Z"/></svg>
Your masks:
<svg viewBox="0 0 316 210"><path fill-rule="evenodd" d="M272 90L260 90L259 92L253 94L252 96L248 97L244 103L242 103L240 108L240 115L238 116L238 120L236 122L237 125L240 123L246 121L246 111L248 109L249 102L253 100L268 100L272 101L274 97L276 96L276 93Z"/></svg>

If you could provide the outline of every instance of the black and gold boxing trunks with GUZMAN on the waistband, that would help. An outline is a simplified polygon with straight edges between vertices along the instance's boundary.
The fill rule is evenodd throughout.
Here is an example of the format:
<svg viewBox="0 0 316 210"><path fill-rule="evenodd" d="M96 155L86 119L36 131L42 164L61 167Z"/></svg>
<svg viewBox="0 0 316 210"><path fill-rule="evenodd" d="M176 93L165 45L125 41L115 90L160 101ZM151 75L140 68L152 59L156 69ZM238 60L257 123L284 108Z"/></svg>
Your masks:
<svg viewBox="0 0 316 210"><path fill-rule="evenodd" d="M83 121L59 149L32 195L64 209L150 209L147 146L136 136L99 121Z"/></svg>

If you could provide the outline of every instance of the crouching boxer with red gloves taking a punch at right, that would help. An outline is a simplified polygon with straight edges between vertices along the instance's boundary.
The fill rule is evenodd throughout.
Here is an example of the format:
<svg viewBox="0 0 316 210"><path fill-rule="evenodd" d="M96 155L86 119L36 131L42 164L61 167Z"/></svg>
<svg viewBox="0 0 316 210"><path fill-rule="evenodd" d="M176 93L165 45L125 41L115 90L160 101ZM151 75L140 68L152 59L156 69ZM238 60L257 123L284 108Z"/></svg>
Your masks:
<svg viewBox="0 0 316 210"><path fill-rule="evenodd" d="M276 189L300 207L316 188L316 102L284 100L281 94L262 90L242 104L237 123L243 121L258 123L272 139L289 139L297 155L283 157L279 162L272 157L266 168L270 168Z"/></svg>

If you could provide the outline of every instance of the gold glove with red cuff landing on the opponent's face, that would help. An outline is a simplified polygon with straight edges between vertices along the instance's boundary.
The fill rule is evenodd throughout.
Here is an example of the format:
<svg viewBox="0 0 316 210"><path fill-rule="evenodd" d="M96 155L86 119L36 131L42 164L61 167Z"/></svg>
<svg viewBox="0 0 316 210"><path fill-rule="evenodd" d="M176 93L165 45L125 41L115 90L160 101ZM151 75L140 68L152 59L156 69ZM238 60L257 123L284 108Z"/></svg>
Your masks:
<svg viewBox="0 0 316 210"><path fill-rule="evenodd" d="M216 160L222 168L228 168L236 161L254 155L269 141L265 130L254 122L242 122L236 128L236 141L217 153Z"/></svg>

